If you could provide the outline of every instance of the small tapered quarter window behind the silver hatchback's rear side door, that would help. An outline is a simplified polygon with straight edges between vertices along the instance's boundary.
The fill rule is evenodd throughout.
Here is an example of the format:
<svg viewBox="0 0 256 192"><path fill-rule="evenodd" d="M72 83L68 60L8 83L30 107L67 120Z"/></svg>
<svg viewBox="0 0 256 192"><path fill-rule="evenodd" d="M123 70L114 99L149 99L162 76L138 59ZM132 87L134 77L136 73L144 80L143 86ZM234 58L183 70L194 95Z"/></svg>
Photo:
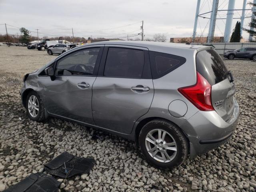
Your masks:
<svg viewBox="0 0 256 192"><path fill-rule="evenodd" d="M153 79L172 72L186 62L186 59L183 57L166 53L150 51L149 55Z"/></svg>

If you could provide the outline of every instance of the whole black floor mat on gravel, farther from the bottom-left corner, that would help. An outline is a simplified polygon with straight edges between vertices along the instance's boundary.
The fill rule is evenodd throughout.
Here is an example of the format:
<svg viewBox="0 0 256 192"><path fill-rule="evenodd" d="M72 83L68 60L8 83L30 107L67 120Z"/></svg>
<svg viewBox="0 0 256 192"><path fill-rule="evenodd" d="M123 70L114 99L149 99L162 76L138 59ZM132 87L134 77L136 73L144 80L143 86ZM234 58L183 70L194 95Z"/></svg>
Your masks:
<svg viewBox="0 0 256 192"><path fill-rule="evenodd" d="M64 152L44 165L44 169L51 175L69 178L74 175L88 173L94 165L91 158L80 158Z"/></svg>

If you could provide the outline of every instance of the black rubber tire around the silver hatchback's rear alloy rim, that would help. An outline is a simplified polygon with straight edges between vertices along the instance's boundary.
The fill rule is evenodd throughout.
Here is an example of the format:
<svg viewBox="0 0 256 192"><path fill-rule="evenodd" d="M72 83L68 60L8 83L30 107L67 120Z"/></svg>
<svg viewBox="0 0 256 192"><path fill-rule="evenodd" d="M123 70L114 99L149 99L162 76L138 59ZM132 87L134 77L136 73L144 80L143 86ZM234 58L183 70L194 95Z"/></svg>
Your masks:
<svg viewBox="0 0 256 192"><path fill-rule="evenodd" d="M147 134L150 131L154 131L156 129L160 129L160 130L167 132L168 134L170 134L172 136L173 140L176 142L176 150L177 150L176 156L174 156L173 159L170 160L169 162L159 162L158 160L154 159L149 154L149 152L146 148ZM169 142L172 142L172 141L169 141ZM154 146L154 144L152 144L152 143L150 143L150 145ZM176 166L179 166L188 157L188 142L187 142L184 134L180 131L180 129L176 125L174 125L171 122L168 122L166 120L157 119L157 120L152 120L152 121L148 122L140 131L139 146L140 146L140 150L141 150L142 154L144 155L144 157L146 158L146 160L150 164L152 164L152 166L154 166L156 168L160 168L160 169L168 170L168 169L174 168ZM162 148L162 149L164 150L164 148ZM158 149L158 151L159 151L159 149ZM170 153L170 152L171 151L169 150L168 153ZM159 155L161 155L161 154L159 154ZM155 155L155 157L157 158L157 156L158 156L158 153Z"/></svg>

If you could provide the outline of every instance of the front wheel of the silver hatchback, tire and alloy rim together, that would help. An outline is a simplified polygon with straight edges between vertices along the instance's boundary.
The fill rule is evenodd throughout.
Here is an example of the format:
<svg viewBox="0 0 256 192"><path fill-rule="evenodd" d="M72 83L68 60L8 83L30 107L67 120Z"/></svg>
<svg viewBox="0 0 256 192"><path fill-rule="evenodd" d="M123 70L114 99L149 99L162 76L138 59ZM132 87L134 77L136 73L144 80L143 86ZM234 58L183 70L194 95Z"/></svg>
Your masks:
<svg viewBox="0 0 256 192"><path fill-rule="evenodd" d="M28 117L32 121L41 122L45 119L44 104L40 96L35 91L31 91L27 95L26 110Z"/></svg>

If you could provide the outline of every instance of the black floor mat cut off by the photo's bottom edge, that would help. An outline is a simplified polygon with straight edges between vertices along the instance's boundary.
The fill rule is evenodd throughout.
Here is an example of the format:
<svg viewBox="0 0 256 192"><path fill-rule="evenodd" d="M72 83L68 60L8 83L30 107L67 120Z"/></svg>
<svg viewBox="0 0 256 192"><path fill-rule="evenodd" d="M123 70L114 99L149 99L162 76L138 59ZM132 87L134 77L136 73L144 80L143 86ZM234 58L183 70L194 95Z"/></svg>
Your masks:
<svg viewBox="0 0 256 192"><path fill-rule="evenodd" d="M43 173L32 173L3 192L58 192L59 186L60 182L52 176Z"/></svg>

